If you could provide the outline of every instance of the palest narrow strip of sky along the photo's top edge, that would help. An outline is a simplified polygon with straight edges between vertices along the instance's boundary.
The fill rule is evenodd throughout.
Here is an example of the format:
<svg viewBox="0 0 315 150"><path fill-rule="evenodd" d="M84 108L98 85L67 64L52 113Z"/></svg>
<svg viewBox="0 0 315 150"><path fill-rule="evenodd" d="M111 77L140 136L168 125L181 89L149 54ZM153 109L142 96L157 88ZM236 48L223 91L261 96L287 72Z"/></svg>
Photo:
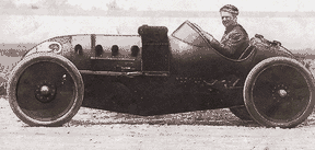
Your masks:
<svg viewBox="0 0 315 150"><path fill-rule="evenodd" d="M242 11L314 11L312 0L1 0L4 9L65 9L108 10L113 3L122 10L217 11L226 3Z"/></svg>

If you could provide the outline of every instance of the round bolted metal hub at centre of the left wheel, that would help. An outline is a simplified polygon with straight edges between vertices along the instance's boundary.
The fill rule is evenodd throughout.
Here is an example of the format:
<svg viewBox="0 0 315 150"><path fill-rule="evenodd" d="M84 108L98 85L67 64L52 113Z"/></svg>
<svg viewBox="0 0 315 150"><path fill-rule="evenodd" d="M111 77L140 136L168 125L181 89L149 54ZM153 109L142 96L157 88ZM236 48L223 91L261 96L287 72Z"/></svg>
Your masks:
<svg viewBox="0 0 315 150"><path fill-rule="evenodd" d="M35 90L35 97L42 103L48 103L55 99L56 88L50 82L39 83Z"/></svg>

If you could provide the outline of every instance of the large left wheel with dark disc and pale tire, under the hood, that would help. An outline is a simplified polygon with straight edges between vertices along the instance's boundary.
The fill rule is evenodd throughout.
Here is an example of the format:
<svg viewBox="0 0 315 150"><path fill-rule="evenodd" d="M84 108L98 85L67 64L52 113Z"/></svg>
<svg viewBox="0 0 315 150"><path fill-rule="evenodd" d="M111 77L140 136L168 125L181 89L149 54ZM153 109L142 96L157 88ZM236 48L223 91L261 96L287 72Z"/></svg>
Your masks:
<svg viewBox="0 0 315 150"><path fill-rule="evenodd" d="M30 126L60 126L79 111L84 83L79 70L56 54L34 54L12 70L8 84L10 106Z"/></svg>

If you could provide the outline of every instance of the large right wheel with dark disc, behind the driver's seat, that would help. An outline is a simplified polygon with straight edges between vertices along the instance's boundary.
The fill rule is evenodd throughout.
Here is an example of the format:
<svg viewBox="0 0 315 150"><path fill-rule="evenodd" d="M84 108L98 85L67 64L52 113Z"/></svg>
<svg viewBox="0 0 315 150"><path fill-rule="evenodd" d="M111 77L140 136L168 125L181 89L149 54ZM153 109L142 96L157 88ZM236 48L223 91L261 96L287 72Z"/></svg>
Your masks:
<svg viewBox="0 0 315 150"><path fill-rule="evenodd" d="M250 116L267 127L291 128L304 122L314 107L312 73L300 62L272 57L256 65L244 84Z"/></svg>

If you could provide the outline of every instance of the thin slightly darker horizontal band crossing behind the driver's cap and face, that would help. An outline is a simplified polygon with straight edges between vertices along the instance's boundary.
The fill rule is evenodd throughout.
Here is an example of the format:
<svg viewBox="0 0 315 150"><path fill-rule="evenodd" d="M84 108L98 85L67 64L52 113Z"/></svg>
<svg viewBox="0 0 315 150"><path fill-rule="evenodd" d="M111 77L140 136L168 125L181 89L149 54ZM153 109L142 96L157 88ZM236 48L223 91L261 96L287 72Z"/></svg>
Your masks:
<svg viewBox="0 0 315 150"><path fill-rule="evenodd" d="M44 10L44 9L4 9L1 15L52 15L52 16L138 16L138 18L218 18L219 11L137 11L137 10L92 10L78 9ZM241 11L241 18L315 18L314 11L277 12L277 11Z"/></svg>

